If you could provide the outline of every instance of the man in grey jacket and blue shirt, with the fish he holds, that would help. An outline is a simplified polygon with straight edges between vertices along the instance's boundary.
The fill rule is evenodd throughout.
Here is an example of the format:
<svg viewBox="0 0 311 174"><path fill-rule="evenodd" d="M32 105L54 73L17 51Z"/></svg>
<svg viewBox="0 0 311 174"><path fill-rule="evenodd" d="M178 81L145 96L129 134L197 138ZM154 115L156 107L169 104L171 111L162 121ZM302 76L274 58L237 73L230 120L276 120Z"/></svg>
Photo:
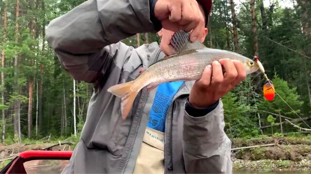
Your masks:
<svg viewBox="0 0 311 174"><path fill-rule="evenodd" d="M211 6L88 0L51 21L47 38L61 65L94 85L63 173L232 173L220 99L257 69L202 44ZM157 32L160 45L121 42L142 32Z"/></svg>

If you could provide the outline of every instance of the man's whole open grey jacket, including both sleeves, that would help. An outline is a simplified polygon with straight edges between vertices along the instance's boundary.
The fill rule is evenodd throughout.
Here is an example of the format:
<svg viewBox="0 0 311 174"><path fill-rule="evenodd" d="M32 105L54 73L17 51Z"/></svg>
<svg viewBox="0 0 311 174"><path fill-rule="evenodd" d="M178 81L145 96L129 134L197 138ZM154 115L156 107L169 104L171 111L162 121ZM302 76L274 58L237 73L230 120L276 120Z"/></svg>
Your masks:
<svg viewBox="0 0 311 174"><path fill-rule="evenodd" d="M152 100L144 88L130 115L121 118L121 99L107 92L134 80L139 67L164 58L157 43L138 48L120 41L156 32L148 0L88 0L48 26L47 38L61 65L76 80L93 84L86 123L64 173L132 173ZM231 173L231 142L224 132L220 101L205 116L185 111L193 81L174 97L165 124L166 173Z"/></svg>

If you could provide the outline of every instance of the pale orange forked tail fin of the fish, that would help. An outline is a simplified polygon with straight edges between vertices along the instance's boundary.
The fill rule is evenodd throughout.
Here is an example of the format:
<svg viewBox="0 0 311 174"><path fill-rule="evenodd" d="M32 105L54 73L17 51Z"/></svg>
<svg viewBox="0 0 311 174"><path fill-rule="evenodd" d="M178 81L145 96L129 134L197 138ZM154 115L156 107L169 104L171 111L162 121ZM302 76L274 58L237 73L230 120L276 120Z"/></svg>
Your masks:
<svg viewBox="0 0 311 174"><path fill-rule="evenodd" d="M135 81L130 81L108 88L108 92L121 98L121 114L125 119L133 106L134 100L138 94L138 90L132 90Z"/></svg>

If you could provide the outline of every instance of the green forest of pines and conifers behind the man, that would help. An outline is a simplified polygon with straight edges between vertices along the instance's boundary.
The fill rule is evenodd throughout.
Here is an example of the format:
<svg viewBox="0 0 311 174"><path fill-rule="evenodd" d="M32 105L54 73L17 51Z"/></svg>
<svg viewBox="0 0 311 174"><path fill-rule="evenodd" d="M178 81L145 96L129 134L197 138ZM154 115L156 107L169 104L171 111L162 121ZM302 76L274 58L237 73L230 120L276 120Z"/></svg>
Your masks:
<svg viewBox="0 0 311 174"><path fill-rule="evenodd" d="M79 139L92 84L73 80L61 67L46 27L84 1L0 0L3 145ZM122 42L138 47L160 38L138 33ZM233 145L284 136L311 142L310 0L213 0L204 44L258 56L276 89L274 100L267 101L265 78L254 73L222 98L225 132Z"/></svg>

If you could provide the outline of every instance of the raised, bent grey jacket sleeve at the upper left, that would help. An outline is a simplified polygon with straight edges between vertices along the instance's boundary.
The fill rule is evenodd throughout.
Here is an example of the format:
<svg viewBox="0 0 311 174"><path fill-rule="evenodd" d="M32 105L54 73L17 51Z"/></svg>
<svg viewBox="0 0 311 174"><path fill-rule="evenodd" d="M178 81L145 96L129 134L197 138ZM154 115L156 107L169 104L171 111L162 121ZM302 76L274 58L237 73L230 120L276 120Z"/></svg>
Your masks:
<svg viewBox="0 0 311 174"><path fill-rule="evenodd" d="M50 22L47 41L74 79L93 83L104 75L122 39L161 28L150 7L148 0L87 0ZM121 46L127 54L133 50Z"/></svg>

